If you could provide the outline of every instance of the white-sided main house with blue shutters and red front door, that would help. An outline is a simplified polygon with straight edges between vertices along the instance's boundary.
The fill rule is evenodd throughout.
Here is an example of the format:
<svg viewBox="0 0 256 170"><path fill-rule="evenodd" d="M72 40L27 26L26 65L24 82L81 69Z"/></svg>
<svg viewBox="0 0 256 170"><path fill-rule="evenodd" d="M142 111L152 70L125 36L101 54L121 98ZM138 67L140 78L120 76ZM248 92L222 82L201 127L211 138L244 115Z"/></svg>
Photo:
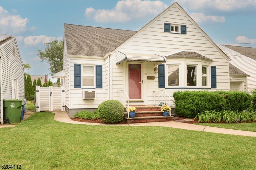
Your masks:
<svg viewBox="0 0 256 170"><path fill-rule="evenodd" d="M158 105L176 90L230 90L229 58L176 2L139 31L64 24L55 75L70 117L109 99Z"/></svg>

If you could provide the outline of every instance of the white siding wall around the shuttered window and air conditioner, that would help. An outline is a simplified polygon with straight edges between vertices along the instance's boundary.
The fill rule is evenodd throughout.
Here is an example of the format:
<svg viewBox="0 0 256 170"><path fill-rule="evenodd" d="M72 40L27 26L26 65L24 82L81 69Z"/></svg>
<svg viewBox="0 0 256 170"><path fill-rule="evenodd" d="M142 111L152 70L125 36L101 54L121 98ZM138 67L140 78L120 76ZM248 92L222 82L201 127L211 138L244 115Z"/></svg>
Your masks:
<svg viewBox="0 0 256 170"><path fill-rule="evenodd" d="M105 71L105 60L102 59L89 59L89 58L78 58L78 57L69 57L70 59L70 107L69 109L84 109L84 108L98 108L98 105L105 101L105 93L106 93L106 76L102 79L102 89L89 89L96 91L96 99L94 100L83 100L82 99L82 90L81 88L74 88L74 64L92 64L92 65L102 65L102 73L106 73ZM83 71L82 71L83 73ZM94 79L95 81L95 79ZM87 89L88 90L88 89Z"/></svg>

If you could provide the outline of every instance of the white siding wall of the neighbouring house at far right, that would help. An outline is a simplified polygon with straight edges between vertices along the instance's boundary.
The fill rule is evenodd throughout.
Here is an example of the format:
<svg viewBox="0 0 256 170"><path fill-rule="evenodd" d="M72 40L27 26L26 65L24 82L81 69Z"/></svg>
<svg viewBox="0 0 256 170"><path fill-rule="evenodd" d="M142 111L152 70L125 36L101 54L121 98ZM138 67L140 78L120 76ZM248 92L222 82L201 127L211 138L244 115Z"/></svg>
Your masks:
<svg viewBox="0 0 256 170"><path fill-rule="evenodd" d="M225 54L227 54L227 56L229 56L231 64L242 70L244 73L250 75L247 80L248 92L253 88L256 88L256 61L225 46L220 46L220 48Z"/></svg>

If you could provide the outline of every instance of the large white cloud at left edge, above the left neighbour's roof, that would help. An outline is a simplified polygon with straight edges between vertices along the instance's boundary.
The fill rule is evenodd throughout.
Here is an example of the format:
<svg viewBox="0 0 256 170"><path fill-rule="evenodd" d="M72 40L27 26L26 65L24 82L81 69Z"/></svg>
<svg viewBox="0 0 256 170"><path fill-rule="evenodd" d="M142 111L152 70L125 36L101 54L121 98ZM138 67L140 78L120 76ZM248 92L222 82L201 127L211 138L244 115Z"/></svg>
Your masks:
<svg viewBox="0 0 256 170"><path fill-rule="evenodd" d="M4 34L17 34L25 31L34 31L36 28L27 28L28 18L12 15L0 6L0 32Z"/></svg>

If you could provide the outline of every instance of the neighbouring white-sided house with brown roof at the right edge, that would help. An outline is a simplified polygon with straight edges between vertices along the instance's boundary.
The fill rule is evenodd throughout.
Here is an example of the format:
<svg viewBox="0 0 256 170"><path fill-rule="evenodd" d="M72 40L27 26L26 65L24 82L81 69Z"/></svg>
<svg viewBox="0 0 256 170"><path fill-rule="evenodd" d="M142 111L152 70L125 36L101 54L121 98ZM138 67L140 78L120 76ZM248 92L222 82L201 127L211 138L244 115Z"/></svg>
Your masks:
<svg viewBox="0 0 256 170"><path fill-rule="evenodd" d="M250 75L247 77L248 92L256 88L256 48L220 45L220 49L230 58L230 63Z"/></svg>

